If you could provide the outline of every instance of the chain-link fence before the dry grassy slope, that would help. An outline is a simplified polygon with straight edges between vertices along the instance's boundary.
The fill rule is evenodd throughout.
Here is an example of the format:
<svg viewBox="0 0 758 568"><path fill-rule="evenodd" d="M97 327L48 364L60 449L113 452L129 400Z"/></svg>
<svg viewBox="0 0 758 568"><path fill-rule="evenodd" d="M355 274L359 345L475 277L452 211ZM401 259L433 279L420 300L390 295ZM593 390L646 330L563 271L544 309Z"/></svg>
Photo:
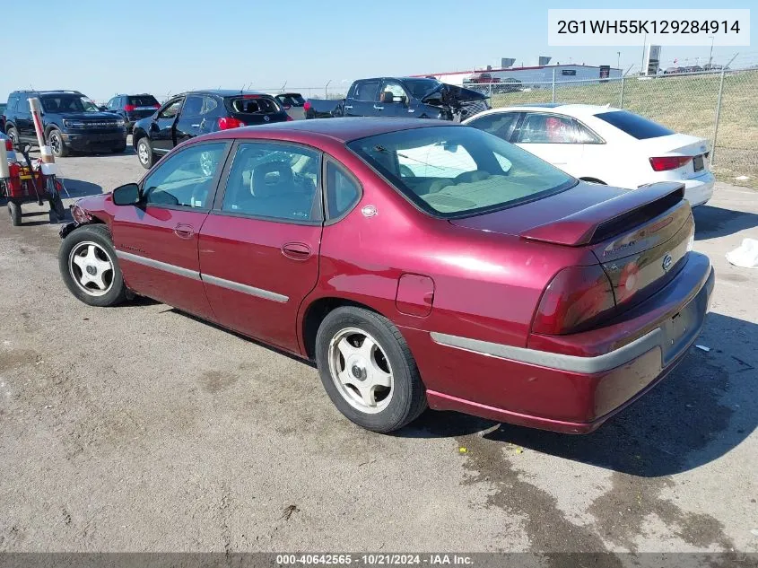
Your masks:
<svg viewBox="0 0 758 568"><path fill-rule="evenodd" d="M495 108L576 102L631 110L709 140L719 179L758 188L758 69L466 87L488 94Z"/></svg>

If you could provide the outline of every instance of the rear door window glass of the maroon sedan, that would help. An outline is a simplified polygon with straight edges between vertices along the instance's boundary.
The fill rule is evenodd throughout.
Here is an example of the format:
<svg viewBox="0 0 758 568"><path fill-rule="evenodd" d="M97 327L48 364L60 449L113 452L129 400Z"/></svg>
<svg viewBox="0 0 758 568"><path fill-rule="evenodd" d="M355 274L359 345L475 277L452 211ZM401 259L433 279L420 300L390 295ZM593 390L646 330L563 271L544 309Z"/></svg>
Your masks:
<svg viewBox="0 0 758 568"><path fill-rule="evenodd" d="M322 219L320 156L295 144L242 143L234 156L222 211L276 220Z"/></svg>

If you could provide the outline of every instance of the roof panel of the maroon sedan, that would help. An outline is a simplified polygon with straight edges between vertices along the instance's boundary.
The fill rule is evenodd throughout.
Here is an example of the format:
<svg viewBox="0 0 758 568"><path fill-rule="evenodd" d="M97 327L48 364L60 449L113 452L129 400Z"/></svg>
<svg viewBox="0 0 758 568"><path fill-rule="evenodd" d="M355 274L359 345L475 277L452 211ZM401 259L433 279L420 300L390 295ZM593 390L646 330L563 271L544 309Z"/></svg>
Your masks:
<svg viewBox="0 0 758 568"><path fill-rule="evenodd" d="M242 127L235 128L233 131L222 131L217 133L235 132L240 136L235 137L255 137L256 133L272 132L309 132L317 135L326 135L340 142L350 142L367 136L386 134L388 132L397 132L399 130L410 130L412 128L423 127L453 127L457 123L447 120L432 120L418 118L368 118L368 117L350 117L350 118L318 118L315 120L292 120L289 122L276 122L266 126ZM245 135L241 135L241 134Z"/></svg>

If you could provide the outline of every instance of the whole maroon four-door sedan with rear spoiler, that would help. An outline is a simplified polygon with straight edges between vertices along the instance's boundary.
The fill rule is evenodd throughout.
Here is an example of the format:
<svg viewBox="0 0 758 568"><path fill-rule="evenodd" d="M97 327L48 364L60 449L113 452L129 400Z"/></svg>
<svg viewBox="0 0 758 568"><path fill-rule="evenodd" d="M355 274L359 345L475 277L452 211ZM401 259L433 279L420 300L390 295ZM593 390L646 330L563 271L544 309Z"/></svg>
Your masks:
<svg viewBox="0 0 758 568"><path fill-rule="evenodd" d="M236 128L78 201L60 270L90 305L140 294L315 360L370 430L431 406L588 433L702 327L683 190L587 184L433 120Z"/></svg>

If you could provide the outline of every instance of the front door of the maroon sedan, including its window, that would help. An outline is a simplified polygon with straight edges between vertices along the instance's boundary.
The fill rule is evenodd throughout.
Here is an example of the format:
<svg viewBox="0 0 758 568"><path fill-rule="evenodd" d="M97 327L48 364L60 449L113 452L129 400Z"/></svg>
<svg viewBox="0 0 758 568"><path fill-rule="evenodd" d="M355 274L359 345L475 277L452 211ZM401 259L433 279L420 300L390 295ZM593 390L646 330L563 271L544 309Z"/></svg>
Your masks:
<svg viewBox="0 0 758 568"><path fill-rule="evenodd" d="M227 142L191 145L143 180L140 205L118 207L112 224L119 266L129 289L213 319L197 245L228 153Z"/></svg>

